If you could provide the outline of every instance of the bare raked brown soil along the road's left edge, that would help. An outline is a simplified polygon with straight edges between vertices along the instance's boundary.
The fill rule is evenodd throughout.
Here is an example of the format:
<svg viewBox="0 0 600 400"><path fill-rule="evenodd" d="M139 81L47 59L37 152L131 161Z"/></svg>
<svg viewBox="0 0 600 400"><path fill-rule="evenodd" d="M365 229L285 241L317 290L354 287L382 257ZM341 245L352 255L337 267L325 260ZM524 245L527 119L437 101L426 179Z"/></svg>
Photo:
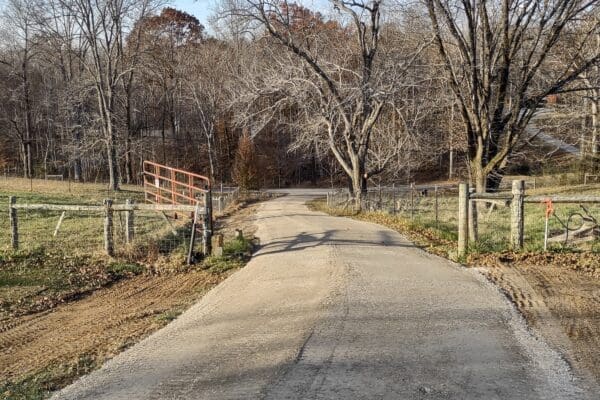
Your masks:
<svg viewBox="0 0 600 400"><path fill-rule="evenodd" d="M252 235L258 206L238 206L218 225ZM91 360L92 369L101 365L166 325L229 274L197 269L134 276L55 308L0 321L0 388L56 370L62 376L46 388L64 386L89 372L77 370L82 359ZM6 387L0 398L13 398Z"/></svg>

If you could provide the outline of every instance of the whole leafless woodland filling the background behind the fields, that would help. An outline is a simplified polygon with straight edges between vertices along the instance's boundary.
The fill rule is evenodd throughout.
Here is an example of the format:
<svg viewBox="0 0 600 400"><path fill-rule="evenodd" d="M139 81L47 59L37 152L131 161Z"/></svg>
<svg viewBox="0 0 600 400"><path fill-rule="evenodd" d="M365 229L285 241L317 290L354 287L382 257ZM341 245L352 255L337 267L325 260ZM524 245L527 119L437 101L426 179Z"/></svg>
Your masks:
<svg viewBox="0 0 600 400"><path fill-rule="evenodd" d="M0 169L482 192L558 151L542 130L597 168L598 1L326 4L223 0L207 29L161 0L6 0Z"/></svg>

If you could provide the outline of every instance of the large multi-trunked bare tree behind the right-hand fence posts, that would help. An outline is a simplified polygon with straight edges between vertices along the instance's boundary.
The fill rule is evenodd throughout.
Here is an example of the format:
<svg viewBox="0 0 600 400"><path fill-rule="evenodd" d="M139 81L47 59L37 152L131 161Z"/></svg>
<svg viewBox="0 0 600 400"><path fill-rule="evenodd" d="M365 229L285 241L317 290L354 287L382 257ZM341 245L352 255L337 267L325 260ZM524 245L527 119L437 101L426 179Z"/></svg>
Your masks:
<svg viewBox="0 0 600 400"><path fill-rule="evenodd" d="M471 179L495 188L506 161L544 99L599 61L583 53L597 23L571 47L582 56L549 65L569 27L593 13L595 0L426 0L439 54L465 126Z"/></svg>

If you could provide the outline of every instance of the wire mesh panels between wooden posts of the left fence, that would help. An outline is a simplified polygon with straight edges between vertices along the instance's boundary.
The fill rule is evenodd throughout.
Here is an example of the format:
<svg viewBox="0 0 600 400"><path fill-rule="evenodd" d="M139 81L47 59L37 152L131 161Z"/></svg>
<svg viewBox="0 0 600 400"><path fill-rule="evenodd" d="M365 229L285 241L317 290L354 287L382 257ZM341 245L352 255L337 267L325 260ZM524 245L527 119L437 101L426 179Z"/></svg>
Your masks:
<svg viewBox="0 0 600 400"><path fill-rule="evenodd" d="M0 196L0 202L0 250L8 251L15 247L9 197ZM113 207L119 205L124 206L124 203L115 203ZM103 206L63 206L81 207L81 210L62 210L60 205L54 206L57 209L31 209L21 204L15 210L19 250L55 249L72 255L106 253ZM114 252L116 255L151 256L185 249L189 246L192 218L192 212L115 210L110 235Z"/></svg>

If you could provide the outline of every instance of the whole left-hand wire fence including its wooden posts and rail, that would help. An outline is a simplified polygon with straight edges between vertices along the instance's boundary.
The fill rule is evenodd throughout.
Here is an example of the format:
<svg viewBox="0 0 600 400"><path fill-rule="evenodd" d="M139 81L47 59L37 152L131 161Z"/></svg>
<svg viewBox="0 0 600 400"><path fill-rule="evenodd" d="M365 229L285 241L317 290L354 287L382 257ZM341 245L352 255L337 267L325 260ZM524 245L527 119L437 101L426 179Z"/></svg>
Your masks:
<svg viewBox="0 0 600 400"><path fill-rule="evenodd" d="M52 246L83 253L102 249L113 257L119 246L126 250L136 245L142 251L159 253L187 246L187 262L192 263L196 238L202 241L204 255L211 252L212 199L210 192L202 196L195 205L131 200L114 204L110 199L102 205L25 204L11 196L8 226L2 229L10 232L5 238L9 243L0 238L0 248Z"/></svg>

